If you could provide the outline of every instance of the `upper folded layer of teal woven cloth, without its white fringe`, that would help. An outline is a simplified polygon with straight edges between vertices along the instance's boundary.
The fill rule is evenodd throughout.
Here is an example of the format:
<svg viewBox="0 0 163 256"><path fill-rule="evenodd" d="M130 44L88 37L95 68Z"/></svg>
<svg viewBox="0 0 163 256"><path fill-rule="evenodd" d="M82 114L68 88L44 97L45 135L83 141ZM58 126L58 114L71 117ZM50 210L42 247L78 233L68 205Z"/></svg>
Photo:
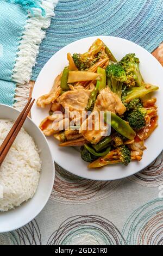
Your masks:
<svg viewBox="0 0 163 256"><path fill-rule="evenodd" d="M15 57L23 28L26 25L26 11L17 4L0 1L0 44L3 54L0 57L0 78L11 81Z"/></svg>

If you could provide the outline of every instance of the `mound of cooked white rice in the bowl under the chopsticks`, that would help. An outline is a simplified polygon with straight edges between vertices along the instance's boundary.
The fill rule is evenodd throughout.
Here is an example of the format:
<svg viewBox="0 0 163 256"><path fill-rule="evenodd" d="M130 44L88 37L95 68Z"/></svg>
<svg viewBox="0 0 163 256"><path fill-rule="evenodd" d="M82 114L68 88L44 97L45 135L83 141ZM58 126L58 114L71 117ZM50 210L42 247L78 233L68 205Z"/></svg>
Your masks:
<svg viewBox="0 0 163 256"><path fill-rule="evenodd" d="M0 119L0 144L13 122ZM21 129L0 167L0 211L8 211L32 198L39 183L41 160L28 133Z"/></svg>

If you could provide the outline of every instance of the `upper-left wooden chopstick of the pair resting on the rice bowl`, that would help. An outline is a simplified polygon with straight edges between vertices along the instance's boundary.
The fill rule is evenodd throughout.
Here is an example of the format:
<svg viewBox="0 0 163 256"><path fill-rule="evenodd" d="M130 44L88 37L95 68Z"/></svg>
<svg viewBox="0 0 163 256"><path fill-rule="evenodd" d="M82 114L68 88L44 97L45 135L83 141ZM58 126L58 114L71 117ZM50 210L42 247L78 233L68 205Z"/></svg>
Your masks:
<svg viewBox="0 0 163 256"><path fill-rule="evenodd" d="M30 99L27 102L27 105L24 107L23 111L20 113L20 115L18 115L18 118L16 119L14 125L12 126L11 130L8 133L8 136L4 139L3 143L1 144L0 147L0 155L2 154L2 151L4 150L5 146L8 144L9 139L11 138L12 134L14 133L17 125L20 123L20 120L23 117L23 114L26 112L27 107L29 106L30 101L32 101L32 97L30 97Z"/></svg>

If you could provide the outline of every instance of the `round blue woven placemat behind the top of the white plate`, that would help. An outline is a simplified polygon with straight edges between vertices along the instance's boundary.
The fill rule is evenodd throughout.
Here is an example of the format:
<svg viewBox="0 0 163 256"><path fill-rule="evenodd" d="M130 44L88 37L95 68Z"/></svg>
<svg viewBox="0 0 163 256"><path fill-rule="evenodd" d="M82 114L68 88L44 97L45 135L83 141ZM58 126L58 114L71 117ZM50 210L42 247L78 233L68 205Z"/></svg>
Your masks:
<svg viewBox="0 0 163 256"><path fill-rule="evenodd" d="M32 79L60 48L93 35L120 36L152 52L163 41L163 0L59 0Z"/></svg>

